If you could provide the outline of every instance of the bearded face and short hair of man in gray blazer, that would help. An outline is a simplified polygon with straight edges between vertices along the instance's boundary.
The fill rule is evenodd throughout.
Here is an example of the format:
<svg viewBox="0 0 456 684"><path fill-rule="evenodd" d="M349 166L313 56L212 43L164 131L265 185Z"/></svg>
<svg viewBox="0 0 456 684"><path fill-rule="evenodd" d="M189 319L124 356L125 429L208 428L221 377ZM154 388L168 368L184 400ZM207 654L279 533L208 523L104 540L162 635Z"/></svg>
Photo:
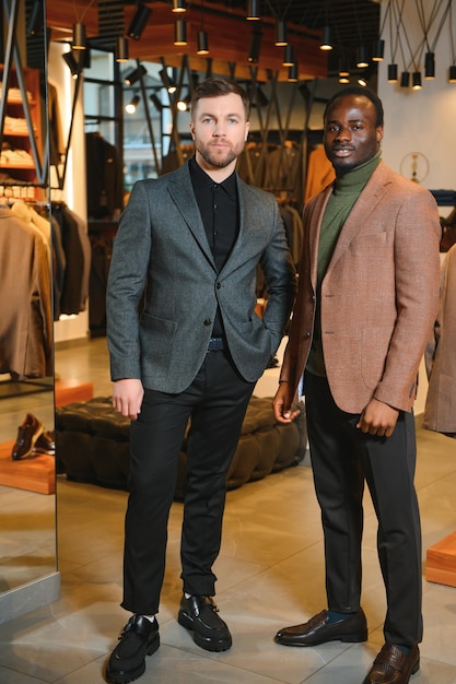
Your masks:
<svg viewBox="0 0 456 684"><path fill-rule="evenodd" d="M248 127L239 95L202 97L190 122L197 156L209 169L230 166L244 150Z"/></svg>

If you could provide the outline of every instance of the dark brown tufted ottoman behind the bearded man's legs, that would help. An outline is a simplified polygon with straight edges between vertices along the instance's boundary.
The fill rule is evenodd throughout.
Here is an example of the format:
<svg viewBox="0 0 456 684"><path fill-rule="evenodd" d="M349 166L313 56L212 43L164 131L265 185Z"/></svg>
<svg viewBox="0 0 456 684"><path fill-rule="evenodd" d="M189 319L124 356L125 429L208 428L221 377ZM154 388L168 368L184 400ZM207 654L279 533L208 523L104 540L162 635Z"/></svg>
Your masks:
<svg viewBox="0 0 456 684"><path fill-rule="evenodd" d="M227 475L233 490L303 460L307 444L305 412L292 423L276 423L271 398L252 397L241 438ZM130 421L114 411L108 397L74 402L56 410L58 472L69 480L128 490ZM186 438L184 437L176 498L185 492Z"/></svg>

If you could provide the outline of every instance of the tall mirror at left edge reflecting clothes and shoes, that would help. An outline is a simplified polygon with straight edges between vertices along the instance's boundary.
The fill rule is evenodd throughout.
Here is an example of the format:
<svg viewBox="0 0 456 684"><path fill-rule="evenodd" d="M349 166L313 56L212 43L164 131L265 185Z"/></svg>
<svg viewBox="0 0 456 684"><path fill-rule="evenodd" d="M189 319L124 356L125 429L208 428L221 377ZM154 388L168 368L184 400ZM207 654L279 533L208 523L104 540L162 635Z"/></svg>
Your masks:
<svg viewBox="0 0 456 684"><path fill-rule="evenodd" d="M57 569L45 12L0 15L0 622L5 594Z"/></svg>

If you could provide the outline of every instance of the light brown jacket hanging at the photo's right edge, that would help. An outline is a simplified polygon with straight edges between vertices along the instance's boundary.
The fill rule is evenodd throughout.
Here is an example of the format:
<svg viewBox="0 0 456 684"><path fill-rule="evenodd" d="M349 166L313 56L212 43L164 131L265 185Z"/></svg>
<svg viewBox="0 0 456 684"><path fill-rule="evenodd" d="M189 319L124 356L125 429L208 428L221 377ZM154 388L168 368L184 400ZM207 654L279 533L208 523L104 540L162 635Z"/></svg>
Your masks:
<svg viewBox="0 0 456 684"><path fill-rule="evenodd" d="M456 437L456 245L442 264L441 306L425 351L423 427Z"/></svg>

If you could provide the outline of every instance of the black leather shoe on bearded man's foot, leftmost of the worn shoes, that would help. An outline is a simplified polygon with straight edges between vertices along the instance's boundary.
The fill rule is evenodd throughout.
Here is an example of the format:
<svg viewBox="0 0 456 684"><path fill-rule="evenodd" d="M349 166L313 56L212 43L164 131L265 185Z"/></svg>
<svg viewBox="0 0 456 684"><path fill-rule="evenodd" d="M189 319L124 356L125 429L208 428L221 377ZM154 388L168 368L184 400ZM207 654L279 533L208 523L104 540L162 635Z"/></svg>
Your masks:
<svg viewBox="0 0 456 684"><path fill-rule="evenodd" d="M132 615L119 636L119 644L106 665L106 680L127 684L145 671L145 656L152 656L160 646L159 623L143 615Z"/></svg>

